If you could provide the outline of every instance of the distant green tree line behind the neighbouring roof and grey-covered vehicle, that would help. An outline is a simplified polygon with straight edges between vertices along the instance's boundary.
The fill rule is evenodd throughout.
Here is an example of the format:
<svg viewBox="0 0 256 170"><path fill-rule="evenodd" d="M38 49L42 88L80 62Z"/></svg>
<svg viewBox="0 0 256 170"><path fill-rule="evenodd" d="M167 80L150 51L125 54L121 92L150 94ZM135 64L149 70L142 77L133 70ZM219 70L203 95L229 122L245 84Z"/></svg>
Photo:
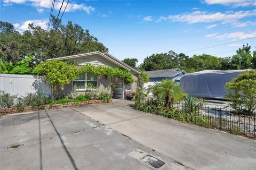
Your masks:
<svg viewBox="0 0 256 170"><path fill-rule="evenodd" d="M251 46L243 45L231 57L215 57L208 54L189 57L183 53L152 54L139 65L143 71L179 68L186 72L202 70L239 70L256 68L256 50L251 53Z"/></svg>

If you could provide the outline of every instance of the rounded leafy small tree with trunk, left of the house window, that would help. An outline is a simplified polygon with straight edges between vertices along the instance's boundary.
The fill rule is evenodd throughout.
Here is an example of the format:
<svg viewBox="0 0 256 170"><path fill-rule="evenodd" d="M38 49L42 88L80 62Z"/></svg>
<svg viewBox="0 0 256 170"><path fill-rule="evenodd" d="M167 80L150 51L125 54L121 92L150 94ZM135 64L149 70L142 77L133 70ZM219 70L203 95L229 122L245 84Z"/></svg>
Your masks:
<svg viewBox="0 0 256 170"><path fill-rule="evenodd" d="M65 84L77 78L79 69L75 64L68 64L67 62L50 60L38 64L35 70L44 75L46 83L52 89L52 100L58 97L58 88L62 88Z"/></svg>

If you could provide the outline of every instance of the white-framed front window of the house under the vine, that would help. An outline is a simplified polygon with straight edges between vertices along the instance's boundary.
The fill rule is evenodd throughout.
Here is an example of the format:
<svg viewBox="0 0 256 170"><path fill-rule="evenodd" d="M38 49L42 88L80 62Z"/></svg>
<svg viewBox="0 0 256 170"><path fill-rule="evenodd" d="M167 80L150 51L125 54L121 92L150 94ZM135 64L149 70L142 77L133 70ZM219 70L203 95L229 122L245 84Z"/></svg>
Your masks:
<svg viewBox="0 0 256 170"><path fill-rule="evenodd" d="M94 73L81 73L73 81L73 89L75 90L85 90L92 87L98 87L98 75Z"/></svg>

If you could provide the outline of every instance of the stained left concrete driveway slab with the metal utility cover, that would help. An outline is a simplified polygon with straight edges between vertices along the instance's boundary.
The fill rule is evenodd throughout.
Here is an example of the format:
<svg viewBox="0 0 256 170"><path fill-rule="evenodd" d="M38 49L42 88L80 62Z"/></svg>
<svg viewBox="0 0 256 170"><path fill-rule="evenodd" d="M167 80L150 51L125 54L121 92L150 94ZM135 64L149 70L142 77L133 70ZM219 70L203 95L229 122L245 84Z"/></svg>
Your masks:
<svg viewBox="0 0 256 170"><path fill-rule="evenodd" d="M79 109L98 114L104 107L116 106ZM0 118L0 128L3 170L156 169L161 165L157 169L187 169L71 108L6 115Z"/></svg>

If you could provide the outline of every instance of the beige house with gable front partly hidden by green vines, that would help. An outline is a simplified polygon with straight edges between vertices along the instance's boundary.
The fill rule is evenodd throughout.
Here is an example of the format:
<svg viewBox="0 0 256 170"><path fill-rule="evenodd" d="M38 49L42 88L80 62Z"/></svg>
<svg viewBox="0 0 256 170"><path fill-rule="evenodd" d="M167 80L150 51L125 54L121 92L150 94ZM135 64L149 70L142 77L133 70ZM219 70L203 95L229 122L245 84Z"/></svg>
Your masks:
<svg viewBox="0 0 256 170"><path fill-rule="evenodd" d="M99 77L94 73L81 73L81 75L78 76L77 80L74 80L70 84L66 84L63 87L63 90L61 91L62 95L67 95L70 91L75 91L76 94L84 94L84 92L86 92L87 90L86 86L89 83L94 87L98 87L99 89L103 87L106 88L110 86L110 84L115 84L114 88L112 88L113 98L124 99L125 91L129 92L137 88L138 74L140 74L140 72L133 69L129 65L123 63L122 61L118 60L116 57L109 53L91 52L65 57L58 57L54 58L54 60L67 62L75 61L75 63L78 65L92 64L95 66L102 65L109 66L112 68L118 67L130 71L135 80L135 82L133 82L132 84L124 84L116 78L108 78L106 76Z"/></svg>

